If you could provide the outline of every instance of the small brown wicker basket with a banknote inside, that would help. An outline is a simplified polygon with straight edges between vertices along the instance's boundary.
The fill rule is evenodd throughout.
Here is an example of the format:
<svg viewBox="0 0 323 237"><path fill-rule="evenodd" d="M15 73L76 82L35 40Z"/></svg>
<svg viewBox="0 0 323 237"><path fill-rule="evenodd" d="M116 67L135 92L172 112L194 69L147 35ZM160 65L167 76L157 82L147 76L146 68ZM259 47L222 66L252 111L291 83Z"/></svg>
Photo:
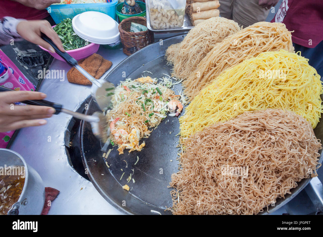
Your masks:
<svg viewBox="0 0 323 237"><path fill-rule="evenodd" d="M154 42L154 33L150 30L141 32L129 32L131 22L147 26L147 19L142 16L132 16L124 19L119 24L119 32L121 43L123 45L123 53L131 55Z"/></svg>

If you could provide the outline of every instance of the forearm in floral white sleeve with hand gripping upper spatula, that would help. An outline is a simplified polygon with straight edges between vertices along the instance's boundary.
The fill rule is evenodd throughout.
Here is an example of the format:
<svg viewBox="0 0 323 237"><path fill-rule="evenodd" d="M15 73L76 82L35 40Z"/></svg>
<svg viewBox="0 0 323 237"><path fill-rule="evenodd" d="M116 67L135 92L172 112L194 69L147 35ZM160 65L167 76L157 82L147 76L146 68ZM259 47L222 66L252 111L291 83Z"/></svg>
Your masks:
<svg viewBox="0 0 323 237"><path fill-rule="evenodd" d="M40 37L42 33L47 35L61 51L65 52L62 41L46 20L26 21L9 16L0 20L0 45L10 44L12 40L25 39L55 52L52 46Z"/></svg>

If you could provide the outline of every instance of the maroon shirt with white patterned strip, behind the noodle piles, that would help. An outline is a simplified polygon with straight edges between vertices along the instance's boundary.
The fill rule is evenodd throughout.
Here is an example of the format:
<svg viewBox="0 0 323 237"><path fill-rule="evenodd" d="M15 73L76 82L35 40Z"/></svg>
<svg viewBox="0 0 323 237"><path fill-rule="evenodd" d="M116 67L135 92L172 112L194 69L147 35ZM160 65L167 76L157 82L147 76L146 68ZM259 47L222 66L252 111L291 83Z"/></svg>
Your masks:
<svg viewBox="0 0 323 237"><path fill-rule="evenodd" d="M323 0L283 0L271 22L294 31L294 43L314 48L323 40Z"/></svg>

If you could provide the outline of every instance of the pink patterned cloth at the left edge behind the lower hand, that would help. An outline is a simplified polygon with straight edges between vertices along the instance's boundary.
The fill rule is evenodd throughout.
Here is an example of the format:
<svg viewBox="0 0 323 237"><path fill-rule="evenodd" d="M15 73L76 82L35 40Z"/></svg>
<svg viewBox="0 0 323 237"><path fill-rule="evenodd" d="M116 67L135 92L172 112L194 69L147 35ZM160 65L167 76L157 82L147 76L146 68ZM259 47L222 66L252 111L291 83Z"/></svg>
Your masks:
<svg viewBox="0 0 323 237"><path fill-rule="evenodd" d="M5 71L0 76L0 86L5 86L16 91L34 91L36 88L16 65L0 50L0 61L5 66ZM0 92L1 93L1 92ZM16 102L15 104L21 104ZM15 131L0 133L0 148L5 148Z"/></svg>

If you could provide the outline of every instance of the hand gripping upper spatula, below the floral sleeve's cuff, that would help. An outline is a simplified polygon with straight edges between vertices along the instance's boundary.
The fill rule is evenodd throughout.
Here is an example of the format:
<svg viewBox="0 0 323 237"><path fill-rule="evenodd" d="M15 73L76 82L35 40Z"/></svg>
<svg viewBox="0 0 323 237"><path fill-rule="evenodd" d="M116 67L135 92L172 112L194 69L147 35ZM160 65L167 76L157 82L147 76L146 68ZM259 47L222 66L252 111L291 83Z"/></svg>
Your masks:
<svg viewBox="0 0 323 237"><path fill-rule="evenodd" d="M38 44L54 53L53 47L40 37L41 33L44 33L56 44L58 49L65 52L62 41L46 20L21 21L17 25L17 33L25 40Z"/></svg>

